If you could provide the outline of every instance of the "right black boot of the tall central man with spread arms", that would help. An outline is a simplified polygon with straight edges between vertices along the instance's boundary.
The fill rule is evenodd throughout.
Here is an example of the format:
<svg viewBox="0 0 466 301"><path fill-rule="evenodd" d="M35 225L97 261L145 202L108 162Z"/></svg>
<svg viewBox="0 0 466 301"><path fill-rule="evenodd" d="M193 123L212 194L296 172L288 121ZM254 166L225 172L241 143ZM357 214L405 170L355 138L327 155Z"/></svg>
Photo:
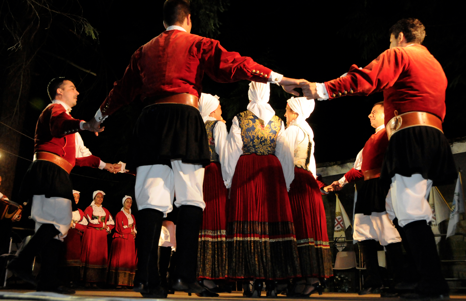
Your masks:
<svg viewBox="0 0 466 301"><path fill-rule="evenodd" d="M173 289L187 293L201 293L204 289L196 281L198 263L199 228L202 223L202 209L193 205L178 208L176 229L177 265Z"/></svg>

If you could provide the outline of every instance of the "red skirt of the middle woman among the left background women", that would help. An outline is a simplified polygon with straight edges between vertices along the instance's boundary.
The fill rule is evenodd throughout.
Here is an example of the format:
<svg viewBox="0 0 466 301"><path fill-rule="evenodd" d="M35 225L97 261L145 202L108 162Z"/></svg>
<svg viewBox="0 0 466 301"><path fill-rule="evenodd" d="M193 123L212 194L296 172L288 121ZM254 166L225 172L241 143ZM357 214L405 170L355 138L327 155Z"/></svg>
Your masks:
<svg viewBox="0 0 466 301"><path fill-rule="evenodd" d="M84 230L81 261L82 280L87 282L105 282L107 280L107 231L90 227Z"/></svg>

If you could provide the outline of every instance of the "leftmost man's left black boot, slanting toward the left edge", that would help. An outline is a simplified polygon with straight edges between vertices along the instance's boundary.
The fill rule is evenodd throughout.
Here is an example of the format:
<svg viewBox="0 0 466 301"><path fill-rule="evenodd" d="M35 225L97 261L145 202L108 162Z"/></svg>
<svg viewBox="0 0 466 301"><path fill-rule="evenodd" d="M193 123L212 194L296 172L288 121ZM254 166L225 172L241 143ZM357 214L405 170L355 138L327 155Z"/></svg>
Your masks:
<svg viewBox="0 0 466 301"><path fill-rule="evenodd" d="M37 281L32 274L34 257L41 254L42 248L59 233L60 231L52 224L43 224L40 226L19 255L10 261L8 270L12 271L13 274L22 280L37 285Z"/></svg>

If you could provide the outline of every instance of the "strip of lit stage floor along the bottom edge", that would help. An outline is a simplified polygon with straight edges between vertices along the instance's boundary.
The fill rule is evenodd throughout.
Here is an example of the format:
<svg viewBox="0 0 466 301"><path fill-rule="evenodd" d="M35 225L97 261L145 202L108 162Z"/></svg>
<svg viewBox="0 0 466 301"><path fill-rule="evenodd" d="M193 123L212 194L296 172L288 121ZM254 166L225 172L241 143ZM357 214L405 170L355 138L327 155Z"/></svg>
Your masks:
<svg viewBox="0 0 466 301"><path fill-rule="evenodd" d="M265 298L265 292L262 298ZM141 294L132 292L130 290L77 290L74 295L61 295L61 294L52 294L52 293L43 293L35 291L26 291L26 290L0 290L0 299L3 300L23 300L23 301L130 301L130 300L140 300L142 301ZM219 297L215 298L203 298L198 297L195 294L188 296L186 293L176 292L175 294L168 295L168 300L186 300L186 299L206 299L206 300L244 300L244 301L257 301L257 298L243 298L241 292L233 292L231 294L220 294ZM267 298L268 299L268 298ZM292 299L287 298L286 296L280 295L274 299L285 300L300 300L303 299ZM397 301L398 298L381 298L377 294L367 294L359 296L358 294L351 293L323 293L321 296L318 294L313 294L309 299L322 299L323 301ZM455 301L465 300L466 294L452 294L450 299ZM148 299L145 299L148 300Z"/></svg>

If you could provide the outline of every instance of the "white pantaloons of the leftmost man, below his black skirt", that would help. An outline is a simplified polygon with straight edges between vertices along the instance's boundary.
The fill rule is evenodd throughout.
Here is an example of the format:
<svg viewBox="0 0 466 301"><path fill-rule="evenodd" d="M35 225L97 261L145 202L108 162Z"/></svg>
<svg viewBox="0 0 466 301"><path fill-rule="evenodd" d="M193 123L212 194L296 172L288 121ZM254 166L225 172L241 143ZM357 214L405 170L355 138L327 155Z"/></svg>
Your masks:
<svg viewBox="0 0 466 301"><path fill-rule="evenodd" d="M46 198L43 194L34 195L32 198L31 218L35 221L35 231L42 224L52 224L60 231L55 238L63 241L71 224L73 214L71 210L71 200L68 198Z"/></svg>

